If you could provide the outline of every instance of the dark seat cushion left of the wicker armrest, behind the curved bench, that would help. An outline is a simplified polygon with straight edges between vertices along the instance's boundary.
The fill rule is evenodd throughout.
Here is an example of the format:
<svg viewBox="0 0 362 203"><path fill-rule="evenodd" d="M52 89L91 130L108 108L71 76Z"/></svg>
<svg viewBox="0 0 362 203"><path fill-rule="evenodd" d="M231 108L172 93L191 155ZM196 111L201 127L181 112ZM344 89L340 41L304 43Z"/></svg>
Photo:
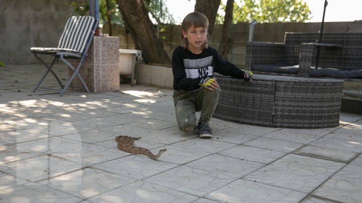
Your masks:
<svg viewBox="0 0 362 203"><path fill-rule="evenodd" d="M291 73L298 74L299 65L294 65L290 63L275 63L275 64L253 64L251 66L251 71L264 71L264 72L274 72L274 73Z"/></svg>

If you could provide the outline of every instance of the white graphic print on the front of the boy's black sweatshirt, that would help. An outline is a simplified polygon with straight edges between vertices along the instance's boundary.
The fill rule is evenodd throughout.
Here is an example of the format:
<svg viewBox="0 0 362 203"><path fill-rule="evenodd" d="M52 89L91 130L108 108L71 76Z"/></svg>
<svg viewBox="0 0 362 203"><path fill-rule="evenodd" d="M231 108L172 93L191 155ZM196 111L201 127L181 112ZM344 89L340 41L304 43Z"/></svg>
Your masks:
<svg viewBox="0 0 362 203"><path fill-rule="evenodd" d="M187 78L198 78L214 75L212 56L202 59L184 59L184 65Z"/></svg>

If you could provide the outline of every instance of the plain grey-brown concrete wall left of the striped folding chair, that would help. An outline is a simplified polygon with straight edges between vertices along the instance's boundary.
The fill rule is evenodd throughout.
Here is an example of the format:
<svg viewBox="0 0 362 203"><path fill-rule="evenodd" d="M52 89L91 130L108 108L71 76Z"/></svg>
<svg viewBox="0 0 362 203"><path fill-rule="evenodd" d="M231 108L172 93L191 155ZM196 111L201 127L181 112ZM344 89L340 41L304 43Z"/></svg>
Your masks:
<svg viewBox="0 0 362 203"><path fill-rule="evenodd" d="M73 0L0 0L0 61L39 63L30 47L57 47Z"/></svg>

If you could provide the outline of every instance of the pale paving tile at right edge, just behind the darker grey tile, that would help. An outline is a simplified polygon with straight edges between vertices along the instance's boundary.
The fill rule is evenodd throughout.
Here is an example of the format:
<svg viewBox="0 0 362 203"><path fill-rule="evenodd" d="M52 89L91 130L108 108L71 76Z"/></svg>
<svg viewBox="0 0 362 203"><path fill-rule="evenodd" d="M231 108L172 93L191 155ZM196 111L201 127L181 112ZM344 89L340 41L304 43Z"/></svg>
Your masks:
<svg viewBox="0 0 362 203"><path fill-rule="evenodd" d="M340 140L340 139L331 139L331 138L322 137L314 142L309 143L309 145L339 149L343 151L358 152L358 153L362 152L361 143L347 141L347 140Z"/></svg>

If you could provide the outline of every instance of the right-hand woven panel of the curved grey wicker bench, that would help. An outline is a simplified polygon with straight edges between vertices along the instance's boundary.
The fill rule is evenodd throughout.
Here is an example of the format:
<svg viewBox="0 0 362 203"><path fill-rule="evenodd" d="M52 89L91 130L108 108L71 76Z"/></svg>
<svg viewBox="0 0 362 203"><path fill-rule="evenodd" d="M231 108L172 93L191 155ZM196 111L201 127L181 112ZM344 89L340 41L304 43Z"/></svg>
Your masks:
<svg viewBox="0 0 362 203"><path fill-rule="evenodd" d="M338 126L343 83L277 82L274 126Z"/></svg>

